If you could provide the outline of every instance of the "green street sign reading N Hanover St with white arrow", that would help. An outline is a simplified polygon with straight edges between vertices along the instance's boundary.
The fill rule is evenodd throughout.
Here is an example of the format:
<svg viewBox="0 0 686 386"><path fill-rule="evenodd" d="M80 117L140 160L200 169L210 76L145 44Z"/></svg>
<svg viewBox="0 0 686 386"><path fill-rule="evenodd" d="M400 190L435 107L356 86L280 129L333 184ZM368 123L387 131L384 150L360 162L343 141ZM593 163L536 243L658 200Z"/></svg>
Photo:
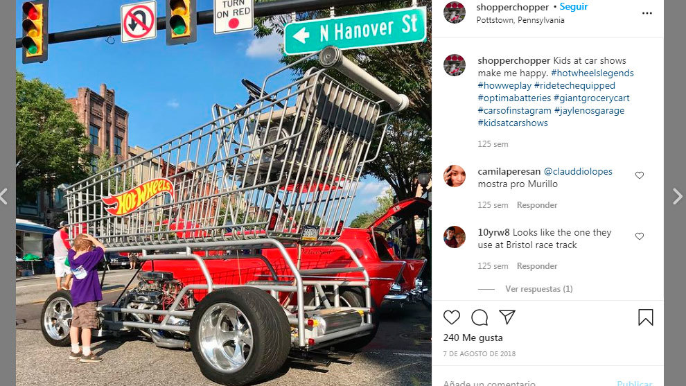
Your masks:
<svg viewBox="0 0 686 386"><path fill-rule="evenodd" d="M426 7L296 21L286 24L283 39L286 55L316 52L326 46L344 50L423 42Z"/></svg>

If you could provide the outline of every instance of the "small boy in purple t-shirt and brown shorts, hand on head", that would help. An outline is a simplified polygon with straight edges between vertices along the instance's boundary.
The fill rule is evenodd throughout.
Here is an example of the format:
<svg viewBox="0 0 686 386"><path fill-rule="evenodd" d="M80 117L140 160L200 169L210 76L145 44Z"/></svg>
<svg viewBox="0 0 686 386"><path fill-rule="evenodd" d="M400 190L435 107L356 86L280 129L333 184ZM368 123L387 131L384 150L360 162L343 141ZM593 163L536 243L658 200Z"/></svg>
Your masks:
<svg viewBox="0 0 686 386"><path fill-rule="evenodd" d="M96 306L103 300L103 291L98 282L98 263L105 256L105 246L89 234L74 238L74 247L69 249L69 266L73 272L71 304L73 317L69 337L71 353L69 359L80 362L101 362L103 358L91 351L91 328L98 328ZM78 347L81 329L82 349Z"/></svg>

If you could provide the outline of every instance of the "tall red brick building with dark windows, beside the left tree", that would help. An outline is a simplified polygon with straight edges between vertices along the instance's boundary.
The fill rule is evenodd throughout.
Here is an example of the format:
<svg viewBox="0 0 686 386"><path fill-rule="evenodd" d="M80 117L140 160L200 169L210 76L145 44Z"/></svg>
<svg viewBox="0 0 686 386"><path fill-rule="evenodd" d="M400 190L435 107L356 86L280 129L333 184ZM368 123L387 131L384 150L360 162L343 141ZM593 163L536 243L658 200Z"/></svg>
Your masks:
<svg viewBox="0 0 686 386"><path fill-rule="evenodd" d="M78 121L85 126L91 139L88 152L91 168L96 168L103 153L118 164L128 158L129 113L116 105L114 90L100 85L100 93L88 87L79 87L76 98L67 98Z"/></svg>

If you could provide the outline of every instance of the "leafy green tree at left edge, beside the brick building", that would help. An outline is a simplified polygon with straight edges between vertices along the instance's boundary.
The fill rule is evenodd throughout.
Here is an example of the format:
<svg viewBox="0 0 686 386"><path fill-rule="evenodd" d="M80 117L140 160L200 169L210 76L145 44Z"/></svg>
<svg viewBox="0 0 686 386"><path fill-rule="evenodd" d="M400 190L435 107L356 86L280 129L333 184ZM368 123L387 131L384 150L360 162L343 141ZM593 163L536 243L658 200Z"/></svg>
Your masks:
<svg viewBox="0 0 686 386"><path fill-rule="evenodd" d="M17 71L17 198L87 177L88 138L64 92Z"/></svg>

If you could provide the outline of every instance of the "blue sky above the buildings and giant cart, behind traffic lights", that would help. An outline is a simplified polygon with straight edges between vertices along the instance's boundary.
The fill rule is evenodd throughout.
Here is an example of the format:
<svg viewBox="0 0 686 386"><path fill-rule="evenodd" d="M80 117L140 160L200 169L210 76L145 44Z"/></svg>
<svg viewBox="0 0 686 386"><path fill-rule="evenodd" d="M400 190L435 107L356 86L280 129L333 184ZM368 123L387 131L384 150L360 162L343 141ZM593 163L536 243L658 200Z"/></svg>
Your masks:
<svg viewBox="0 0 686 386"><path fill-rule="evenodd" d="M134 2L51 0L49 30L115 24L121 5ZM17 37L21 3L17 1ZM199 0L197 7L208 10L212 5L212 0ZM164 1L158 1L157 16L164 12ZM76 96L79 87L99 91L105 83L114 89L116 104L130 114L130 146L151 148L210 121L213 103L244 103L241 78L261 84L281 67L281 37L256 39L252 31L214 35L211 24L198 26L197 35L197 42L180 46L167 46L164 30L157 31L155 40L127 44L119 36L112 45L105 38L51 44L47 62L26 65L17 49L17 69L27 78L61 88L67 98ZM385 188L384 182L364 179L348 221L373 210Z"/></svg>

